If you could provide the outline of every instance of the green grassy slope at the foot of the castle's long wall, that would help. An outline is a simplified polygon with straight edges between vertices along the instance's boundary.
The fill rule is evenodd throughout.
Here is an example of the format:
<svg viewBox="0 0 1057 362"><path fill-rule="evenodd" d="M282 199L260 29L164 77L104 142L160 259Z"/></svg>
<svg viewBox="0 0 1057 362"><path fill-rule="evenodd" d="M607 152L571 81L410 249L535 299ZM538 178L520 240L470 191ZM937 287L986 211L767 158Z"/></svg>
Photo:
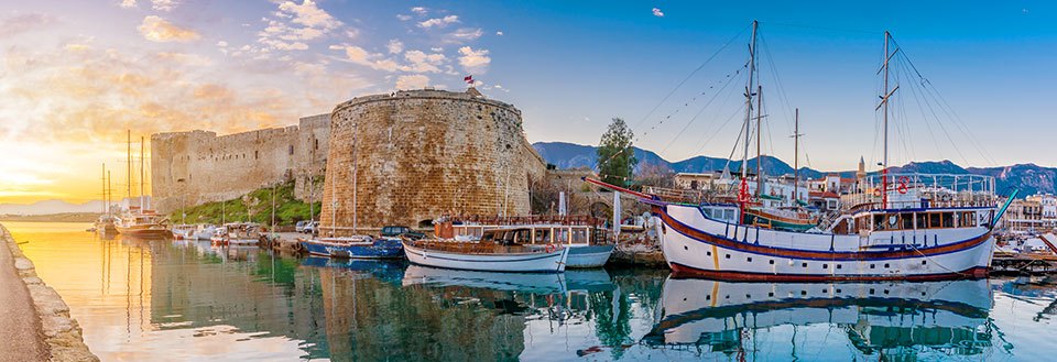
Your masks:
<svg viewBox="0 0 1057 362"><path fill-rule="evenodd" d="M318 220L322 204L316 201L315 216ZM272 221L272 188L253 190L240 199L206 202L187 208L187 223L220 223L221 210L225 221L254 221L270 224ZM182 222L179 210L168 216L173 223ZM287 226L308 220L308 204L294 198L294 183L288 182L275 187L275 223Z"/></svg>

